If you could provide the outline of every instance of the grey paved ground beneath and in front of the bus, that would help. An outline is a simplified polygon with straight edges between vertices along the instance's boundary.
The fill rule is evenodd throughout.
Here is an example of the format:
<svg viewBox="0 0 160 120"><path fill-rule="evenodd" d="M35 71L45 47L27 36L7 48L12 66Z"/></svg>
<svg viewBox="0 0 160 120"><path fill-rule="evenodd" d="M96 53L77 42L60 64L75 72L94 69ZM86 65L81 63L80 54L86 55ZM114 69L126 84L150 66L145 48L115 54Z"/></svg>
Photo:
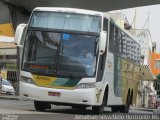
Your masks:
<svg viewBox="0 0 160 120"><path fill-rule="evenodd" d="M6 120L9 118L13 120L78 120L78 119L123 119L124 117L132 117L133 115L140 114L152 115L151 110L143 110L131 108L129 114L112 113L110 108L105 108L103 115L93 115L91 108L87 108L86 111L72 109L66 106L52 106L51 110L45 112L35 111L33 101L30 100L19 100L19 99L0 99L0 120ZM152 116L150 116L152 117ZM154 118L154 116L153 116ZM7 119L7 120L10 120ZM131 118L129 118L131 119ZM152 118L148 118L149 120ZM146 120L148 120L146 118ZM158 120L160 117L158 117Z"/></svg>

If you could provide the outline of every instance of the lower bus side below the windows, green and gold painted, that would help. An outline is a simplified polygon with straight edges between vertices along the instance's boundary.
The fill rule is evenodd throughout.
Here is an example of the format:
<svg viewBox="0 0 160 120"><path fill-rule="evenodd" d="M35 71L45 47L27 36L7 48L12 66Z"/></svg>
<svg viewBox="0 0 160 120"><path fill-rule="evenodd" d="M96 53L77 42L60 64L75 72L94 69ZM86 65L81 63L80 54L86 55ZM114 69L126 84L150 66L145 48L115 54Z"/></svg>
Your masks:
<svg viewBox="0 0 160 120"><path fill-rule="evenodd" d="M132 90L133 90L133 96L132 96L133 103L135 103L138 91L139 66L133 64L128 60L118 57L117 55L113 55L112 53L110 53L110 57L108 57L107 60L114 61L112 63L113 69L109 71L109 68L107 68L109 87L113 88L113 93L111 93L110 91L109 95L122 99L122 102L112 101L111 103L113 105L126 104L128 92L130 91L130 97L131 97Z"/></svg>

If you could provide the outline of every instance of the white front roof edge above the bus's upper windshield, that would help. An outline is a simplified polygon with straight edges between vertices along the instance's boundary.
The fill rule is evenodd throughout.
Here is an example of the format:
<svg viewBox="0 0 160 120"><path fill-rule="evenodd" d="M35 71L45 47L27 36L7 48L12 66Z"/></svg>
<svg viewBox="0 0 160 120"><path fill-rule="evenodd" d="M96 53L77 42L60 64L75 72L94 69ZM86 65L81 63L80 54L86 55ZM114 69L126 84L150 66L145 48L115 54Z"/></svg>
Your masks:
<svg viewBox="0 0 160 120"><path fill-rule="evenodd" d="M79 13L86 15L103 16L103 12L77 9L77 8L65 8L65 7L37 7L33 11L56 11L56 12L58 11L58 12L70 12L70 13Z"/></svg>

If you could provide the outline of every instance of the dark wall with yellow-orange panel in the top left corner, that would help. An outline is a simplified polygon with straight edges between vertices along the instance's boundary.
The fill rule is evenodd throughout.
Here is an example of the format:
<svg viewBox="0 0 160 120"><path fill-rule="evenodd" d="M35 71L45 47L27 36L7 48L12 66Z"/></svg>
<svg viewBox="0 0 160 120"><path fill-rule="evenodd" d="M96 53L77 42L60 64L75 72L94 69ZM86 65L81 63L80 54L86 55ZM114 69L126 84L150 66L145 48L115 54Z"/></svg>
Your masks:
<svg viewBox="0 0 160 120"><path fill-rule="evenodd" d="M0 1L0 35L14 36L17 25L27 23L29 16L24 8Z"/></svg>

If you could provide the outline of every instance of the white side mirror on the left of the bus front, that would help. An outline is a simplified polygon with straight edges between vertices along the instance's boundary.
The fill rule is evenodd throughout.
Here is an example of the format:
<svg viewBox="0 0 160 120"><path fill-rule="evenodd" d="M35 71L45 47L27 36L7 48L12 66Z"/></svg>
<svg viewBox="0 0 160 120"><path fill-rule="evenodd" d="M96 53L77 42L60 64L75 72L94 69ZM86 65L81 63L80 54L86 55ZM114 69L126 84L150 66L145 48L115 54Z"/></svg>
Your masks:
<svg viewBox="0 0 160 120"><path fill-rule="evenodd" d="M14 37L14 43L17 45L20 45L22 36L23 36L23 31L24 28L26 27L26 24L20 24L17 26L16 28L16 33L15 33L15 37Z"/></svg>

